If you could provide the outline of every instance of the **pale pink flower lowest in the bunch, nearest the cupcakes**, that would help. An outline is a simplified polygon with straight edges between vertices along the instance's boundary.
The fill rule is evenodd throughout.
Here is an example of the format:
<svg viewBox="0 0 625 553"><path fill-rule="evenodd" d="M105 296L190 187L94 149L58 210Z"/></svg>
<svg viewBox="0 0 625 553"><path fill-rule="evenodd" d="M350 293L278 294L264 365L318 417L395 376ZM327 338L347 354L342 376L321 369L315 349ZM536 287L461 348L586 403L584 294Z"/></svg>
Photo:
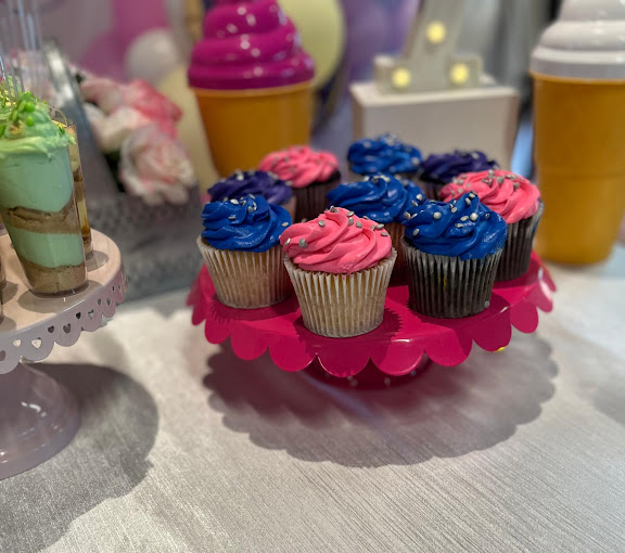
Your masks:
<svg viewBox="0 0 625 553"><path fill-rule="evenodd" d="M160 131L156 125L133 131L122 145L119 180L129 194L148 204L163 198L183 204L187 189L196 183L193 167L182 144Z"/></svg>

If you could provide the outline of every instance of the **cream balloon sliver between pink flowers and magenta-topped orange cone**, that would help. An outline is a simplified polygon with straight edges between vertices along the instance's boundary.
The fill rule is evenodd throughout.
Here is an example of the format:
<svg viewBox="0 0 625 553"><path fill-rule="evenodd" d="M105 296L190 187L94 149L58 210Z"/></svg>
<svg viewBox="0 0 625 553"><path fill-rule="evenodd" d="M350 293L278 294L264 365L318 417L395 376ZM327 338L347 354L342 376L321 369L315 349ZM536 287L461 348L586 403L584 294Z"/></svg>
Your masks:
<svg viewBox="0 0 625 553"><path fill-rule="evenodd" d="M200 181L200 190L205 191L215 184L218 176L211 160L195 94L187 85L186 65L179 64L171 69L156 88L182 110L182 119L178 123L178 138L189 153Z"/></svg>

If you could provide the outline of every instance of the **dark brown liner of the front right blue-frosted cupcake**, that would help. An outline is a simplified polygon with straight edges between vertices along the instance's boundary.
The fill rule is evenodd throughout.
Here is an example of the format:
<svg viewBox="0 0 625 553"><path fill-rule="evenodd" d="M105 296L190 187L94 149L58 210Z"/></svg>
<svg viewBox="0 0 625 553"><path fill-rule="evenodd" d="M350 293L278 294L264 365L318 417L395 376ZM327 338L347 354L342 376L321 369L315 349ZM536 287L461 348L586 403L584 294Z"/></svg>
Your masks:
<svg viewBox="0 0 625 553"><path fill-rule="evenodd" d="M483 259L420 252L403 240L408 270L409 306L441 319L477 314L490 305L501 249Z"/></svg>

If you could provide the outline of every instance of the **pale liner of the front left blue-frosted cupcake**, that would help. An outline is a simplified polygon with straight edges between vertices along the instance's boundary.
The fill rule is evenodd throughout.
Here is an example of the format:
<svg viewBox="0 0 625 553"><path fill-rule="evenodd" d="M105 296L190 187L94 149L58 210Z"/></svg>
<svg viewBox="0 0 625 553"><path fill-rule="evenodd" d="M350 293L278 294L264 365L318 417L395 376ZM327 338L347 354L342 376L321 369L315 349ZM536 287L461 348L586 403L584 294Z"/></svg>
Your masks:
<svg viewBox="0 0 625 553"><path fill-rule="evenodd" d="M217 249L202 236L197 247L211 273L217 298L237 309L258 309L285 299L291 282L282 262L282 248L263 253Z"/></svg>

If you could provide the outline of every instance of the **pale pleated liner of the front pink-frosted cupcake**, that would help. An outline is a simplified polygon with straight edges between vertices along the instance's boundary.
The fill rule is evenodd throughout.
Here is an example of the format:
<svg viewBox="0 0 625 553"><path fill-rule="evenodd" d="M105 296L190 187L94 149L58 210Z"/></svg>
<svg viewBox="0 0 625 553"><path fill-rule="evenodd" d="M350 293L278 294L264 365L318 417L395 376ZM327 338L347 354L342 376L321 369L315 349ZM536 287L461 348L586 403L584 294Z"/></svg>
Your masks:
<svg viewBox="0 0 625 553"><path fill-rule="evenodd" d="M306 271L285 256L306 329L330 338L347 338L380 326L396 258L393 249L390 258L371 269L332 274Z"/></svg>

